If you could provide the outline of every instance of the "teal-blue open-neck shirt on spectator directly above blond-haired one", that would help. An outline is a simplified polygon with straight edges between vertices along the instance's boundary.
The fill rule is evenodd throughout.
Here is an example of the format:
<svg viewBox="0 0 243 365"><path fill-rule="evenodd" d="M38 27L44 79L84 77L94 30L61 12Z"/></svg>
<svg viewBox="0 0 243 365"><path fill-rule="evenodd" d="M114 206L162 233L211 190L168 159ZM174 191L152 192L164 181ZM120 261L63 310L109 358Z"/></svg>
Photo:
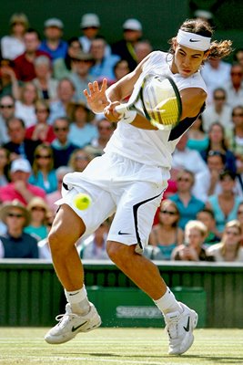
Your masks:
<svg viewBox="0 0 243 365"><path fill-rule="evenodd" d="M185 206L184 203L180 200L178 193L170 195L169 200L172 200L177 204L177 208L180 214L178 226L183 230L185 229L185 225L187 224L187 222L197 219L197 213L201 211L205 206L205 203L197 199L194 195L191 196L191 199L187 206Z"/></svg>

